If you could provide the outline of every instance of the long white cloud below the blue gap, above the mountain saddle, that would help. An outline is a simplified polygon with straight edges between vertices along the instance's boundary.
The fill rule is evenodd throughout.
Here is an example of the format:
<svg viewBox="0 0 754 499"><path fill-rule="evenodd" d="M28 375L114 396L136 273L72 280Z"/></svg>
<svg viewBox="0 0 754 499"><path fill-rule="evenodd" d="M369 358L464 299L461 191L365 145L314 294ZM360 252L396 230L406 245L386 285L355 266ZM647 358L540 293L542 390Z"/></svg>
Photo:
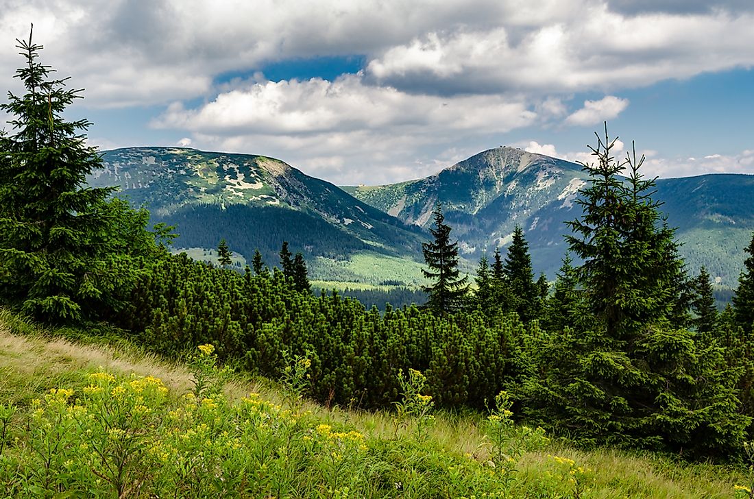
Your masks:
<svg viewBox="0 0 754 499"><path fill-rule="evenodd" d="M375 183L434 173L452 164L438 164L438 150L457 161L478 149L454 145L480 130L499 135L536 118L520 100L415 96L346 75L250 82L195 109L175 103L153 126L187 130L195 147L277 155L312 175Z"/></svg>

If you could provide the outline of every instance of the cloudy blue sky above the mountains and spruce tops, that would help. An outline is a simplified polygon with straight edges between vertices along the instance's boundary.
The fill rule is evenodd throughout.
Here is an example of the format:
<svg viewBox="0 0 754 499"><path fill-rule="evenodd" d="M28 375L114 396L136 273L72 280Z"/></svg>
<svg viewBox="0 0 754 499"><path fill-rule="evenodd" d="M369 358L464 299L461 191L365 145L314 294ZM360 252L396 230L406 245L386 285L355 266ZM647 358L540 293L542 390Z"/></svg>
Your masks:
<svg viewBox="0 0 754 499"><path fill-rule="evenodd" d="M103 149L377 185L498 145L590 161L607 121L648 175L754 173L752 0L0 0L2 90L30 23Z"/></svg>

